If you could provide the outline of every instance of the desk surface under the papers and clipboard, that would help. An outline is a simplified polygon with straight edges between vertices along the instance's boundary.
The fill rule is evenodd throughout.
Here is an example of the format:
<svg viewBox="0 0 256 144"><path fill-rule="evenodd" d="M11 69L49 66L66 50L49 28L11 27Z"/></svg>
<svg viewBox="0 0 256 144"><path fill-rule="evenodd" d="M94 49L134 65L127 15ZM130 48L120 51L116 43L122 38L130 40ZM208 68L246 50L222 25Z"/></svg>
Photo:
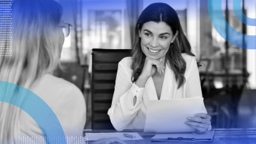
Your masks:
<svg viewBox="0 0 256 144"><path fill-rule="evenodd" d="M125 130L125 132L138 132L143 140L125 140L127 144L165 144L165 143L199 143L199 144L256 144L256 129L212 129L215 131L215 138L212 142L160 142L160 141L151 141L151 137L154 136L154 133L143 133L142 130ZM84 133L89 132L117 132L117 131L91 131L85 130ZM122 131L124 132L124 131ZM89 141L91 143L91 141Z"/></svg>

